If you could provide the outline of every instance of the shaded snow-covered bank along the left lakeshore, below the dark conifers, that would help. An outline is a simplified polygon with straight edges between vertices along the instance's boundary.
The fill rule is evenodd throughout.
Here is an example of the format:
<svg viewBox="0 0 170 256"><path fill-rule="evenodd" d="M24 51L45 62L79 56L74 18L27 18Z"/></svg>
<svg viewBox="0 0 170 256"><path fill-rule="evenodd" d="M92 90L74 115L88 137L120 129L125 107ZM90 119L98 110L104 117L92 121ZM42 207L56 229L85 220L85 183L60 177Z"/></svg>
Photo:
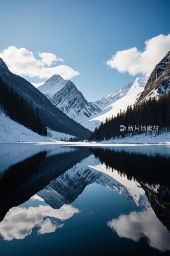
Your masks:
<svg viewBox="0 0 170 256"><path fill-rule="evenodd" d="M4 113L0 113L0 143L1 142L50 142L51 140L69 140L70 134L52 131L47 127L48 137L41 136L25 126L16 123Z"/></svg>

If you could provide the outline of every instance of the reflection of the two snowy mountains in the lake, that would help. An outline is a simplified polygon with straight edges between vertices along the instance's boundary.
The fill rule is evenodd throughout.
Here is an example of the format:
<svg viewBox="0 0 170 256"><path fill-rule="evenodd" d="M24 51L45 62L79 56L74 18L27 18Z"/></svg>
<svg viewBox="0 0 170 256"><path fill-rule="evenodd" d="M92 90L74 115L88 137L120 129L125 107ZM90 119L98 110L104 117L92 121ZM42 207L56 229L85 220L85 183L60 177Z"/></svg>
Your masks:
<svg viewBox="0 0 170 256"><path fill-rule="evenodd" d="M37 195L52 208L58 209L63 204L72 203L87 185L94 182L132 200L137 206L147 201L144 190L137 181L130 181L126 175L120 176L115 170L107 170L105 164L100 164L99 158L96 159L93 155L51 181Z"/></svg>

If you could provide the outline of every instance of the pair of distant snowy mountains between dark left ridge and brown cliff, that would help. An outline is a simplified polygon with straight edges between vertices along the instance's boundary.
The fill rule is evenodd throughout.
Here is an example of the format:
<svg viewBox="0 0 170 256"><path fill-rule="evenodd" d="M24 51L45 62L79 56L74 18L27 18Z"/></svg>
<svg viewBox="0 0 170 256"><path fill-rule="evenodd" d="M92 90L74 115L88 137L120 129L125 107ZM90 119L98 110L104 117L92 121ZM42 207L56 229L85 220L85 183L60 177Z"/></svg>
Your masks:
<svg viewBox="0 0 170 256"><path fill-rule="evenodd" d="M106 117L117 115L120 109L123 111L128 105L133 105L145 84L144 78L137 77L132 83L94 103L85 100L70 80L64 80L59 75L52 76L37 89L67 116L93 131Z"/></svg>

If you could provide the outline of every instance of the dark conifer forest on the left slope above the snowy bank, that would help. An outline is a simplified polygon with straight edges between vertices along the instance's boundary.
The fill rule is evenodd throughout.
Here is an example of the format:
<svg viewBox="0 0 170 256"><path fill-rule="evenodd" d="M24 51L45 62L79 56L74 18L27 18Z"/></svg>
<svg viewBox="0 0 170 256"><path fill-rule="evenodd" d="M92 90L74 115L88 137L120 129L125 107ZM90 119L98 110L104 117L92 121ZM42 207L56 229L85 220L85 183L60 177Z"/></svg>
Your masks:
<svg viewBox="0 0 170 256"><path fill-rule="evenodd" d="M34 112L22 96L3 82L0 76L0 112L4 112L15 122L24 125L40 135L47 135L45 124L39 117L39 109Z"/></svg>

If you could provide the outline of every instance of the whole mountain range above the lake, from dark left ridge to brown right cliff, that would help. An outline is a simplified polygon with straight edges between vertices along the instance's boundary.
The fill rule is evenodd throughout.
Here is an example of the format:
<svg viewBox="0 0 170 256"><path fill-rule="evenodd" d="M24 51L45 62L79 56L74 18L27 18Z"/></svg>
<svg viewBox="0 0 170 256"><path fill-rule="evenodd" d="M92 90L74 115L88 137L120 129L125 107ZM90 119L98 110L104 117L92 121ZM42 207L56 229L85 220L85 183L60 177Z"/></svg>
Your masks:
<svg viewBox="0 0 170 256"><path fill-rule="evenodd" d="M156 65L148 81L137 77L130 84L94 103L88 102L70 80L64 80L59 75L49 78L37 90L24 78L11 73L1 58L0 76L26 98L30 106L39 108L40 117L47 127L88 138L90 131L105 122L106 117L116 116L120 109L123 112L128 105L140 104L149 97L159 98L161 94L166 94L170 90L169 57L170 51Z"/></svg>

